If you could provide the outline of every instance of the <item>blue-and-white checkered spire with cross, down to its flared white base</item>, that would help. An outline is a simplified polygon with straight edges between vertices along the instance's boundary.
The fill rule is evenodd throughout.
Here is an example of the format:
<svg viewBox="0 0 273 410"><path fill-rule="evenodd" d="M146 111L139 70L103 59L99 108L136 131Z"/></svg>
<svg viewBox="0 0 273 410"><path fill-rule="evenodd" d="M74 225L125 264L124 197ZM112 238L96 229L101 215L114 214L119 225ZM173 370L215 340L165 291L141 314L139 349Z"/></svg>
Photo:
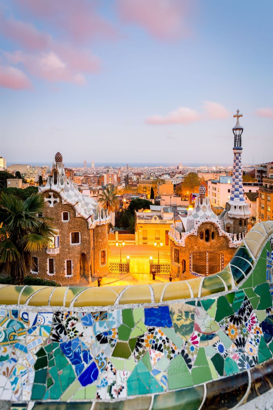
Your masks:
<svg viewBox="0 0 273 410"><path fill-rule="evenodd" d="M250 216L249 206L245 203L244 200L244 189L243 189L243 173L242 173L242 163L241 163L241 153L242 153L242 144L241 144L241 134L243 133L244 128L241 127L239 123L239 118L242 117L242 114L239 114L239 109L237 109L237 114L234 114L233 117L237 118L235 127L232 128L234 134L234 147L233 147L233 176L232 176L232 188L230 194L230 200L228 204L230 205L230 210L228 214L231 218L237 219L247 219Z"/></svg>

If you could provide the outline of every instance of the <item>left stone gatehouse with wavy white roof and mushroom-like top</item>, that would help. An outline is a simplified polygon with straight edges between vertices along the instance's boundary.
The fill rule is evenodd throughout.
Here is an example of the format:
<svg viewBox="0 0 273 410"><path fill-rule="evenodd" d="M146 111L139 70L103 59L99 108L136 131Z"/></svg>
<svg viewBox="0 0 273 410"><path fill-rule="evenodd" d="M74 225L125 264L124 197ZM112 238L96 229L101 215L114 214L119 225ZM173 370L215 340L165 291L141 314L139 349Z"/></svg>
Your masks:
<svg viewBox="0 0 273 410"><path fill-rule="evenodd" d="M43 216L53 219L56 234L46 249L33 253L32 273L63 284L77 284L108 273L107 210L83 197L65 177L63 157L55 155L52 176L39 187L45 200ZM84 281L83 281L84 282Z"/></svg>

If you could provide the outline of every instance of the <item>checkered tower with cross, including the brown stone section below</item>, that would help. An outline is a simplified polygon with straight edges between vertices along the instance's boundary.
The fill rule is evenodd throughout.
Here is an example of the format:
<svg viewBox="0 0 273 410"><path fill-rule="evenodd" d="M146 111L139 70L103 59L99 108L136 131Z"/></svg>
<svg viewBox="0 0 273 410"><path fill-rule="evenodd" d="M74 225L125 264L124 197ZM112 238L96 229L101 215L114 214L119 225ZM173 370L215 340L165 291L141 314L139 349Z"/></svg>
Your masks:
<svg viewBox="0 0 273 410"><path fill-rule="evenodd" d="M230 200L226 203L227 212L224 216L225 228L230 233L247 231L248 218L250 217L249 205L244 200L243 189L243 171L241 163L241 153L243 148L241 135L244 128L239 122L239 118L242 116L242 114L239 114L239 109L237 109L237 114L233 115L234 118L237 118L237 122L235 127L232 128L234 134L232 187Z"/></svg>

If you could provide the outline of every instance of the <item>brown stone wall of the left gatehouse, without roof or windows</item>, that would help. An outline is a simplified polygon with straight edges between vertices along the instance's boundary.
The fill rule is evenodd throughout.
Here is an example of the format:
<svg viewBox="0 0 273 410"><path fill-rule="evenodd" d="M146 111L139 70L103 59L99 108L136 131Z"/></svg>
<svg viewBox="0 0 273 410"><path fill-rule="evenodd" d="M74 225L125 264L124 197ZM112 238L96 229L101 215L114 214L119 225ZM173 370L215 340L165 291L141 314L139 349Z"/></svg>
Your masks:
<svg viewBox="0 0 273 410"><path fill-rule="evenodd" d="M48 197L48 192L43 194ZM45 203L43 216L52 218L52 224L59 230L59 253L47 254L46 250L34 252L33 256L38 257L38 276L40 278L50 278L63 285L79 283L80 276L86 278L91 273L92 276L104 276L108 273L108 257L105 266L100 266L100 251L106 249L108 254L107 225L101 225L93 229L88 229L88 223L81 217L76 217L74 207L62 204L61 198L54 193L54 197L59 198L59 202L50 207ZM62 212L69 212L69 221L62 221ZM71 232L80 232L80 244L71 244ZM95 237L95 248L93 240ZM94 251L95 249L95 251ZM93 260L95 256L95 261ZM54 258L54 276L48 275L48 258ZM72 276L65 275L66 260L72 260ZM95 267L95 270L94 270Z"/></svg>

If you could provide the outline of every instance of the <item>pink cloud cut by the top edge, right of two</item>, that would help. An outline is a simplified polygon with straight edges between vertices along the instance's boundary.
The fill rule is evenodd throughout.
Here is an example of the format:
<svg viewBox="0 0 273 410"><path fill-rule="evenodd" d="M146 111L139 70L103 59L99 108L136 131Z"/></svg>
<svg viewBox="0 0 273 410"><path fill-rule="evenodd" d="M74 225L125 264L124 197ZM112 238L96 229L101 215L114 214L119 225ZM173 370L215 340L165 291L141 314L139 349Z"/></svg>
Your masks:
<svg viewBox="0 0 273 410"><path fill-rule="evenodd" d="M187 0L118 0L118 12L126 23L143 27L157 39L177 39L187 34Z"/></svg>

